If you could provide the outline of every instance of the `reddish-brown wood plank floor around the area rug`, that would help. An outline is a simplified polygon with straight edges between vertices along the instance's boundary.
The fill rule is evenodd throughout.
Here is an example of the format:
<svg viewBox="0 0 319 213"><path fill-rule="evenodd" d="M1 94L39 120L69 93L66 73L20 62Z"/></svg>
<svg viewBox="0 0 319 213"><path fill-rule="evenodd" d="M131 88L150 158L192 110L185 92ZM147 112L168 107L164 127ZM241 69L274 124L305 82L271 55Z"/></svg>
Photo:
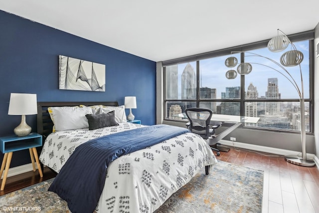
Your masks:
<svg viewBox="0 0 319 213"><path fill-rule="evenodd" d="M263 213L319 213L318 168L296 166L284 157L272 156L231 148L216 158L264 171ZM48 168L44 168L43 178L38 171L9 177L0 196L53 177L55 174Z"/></svg>

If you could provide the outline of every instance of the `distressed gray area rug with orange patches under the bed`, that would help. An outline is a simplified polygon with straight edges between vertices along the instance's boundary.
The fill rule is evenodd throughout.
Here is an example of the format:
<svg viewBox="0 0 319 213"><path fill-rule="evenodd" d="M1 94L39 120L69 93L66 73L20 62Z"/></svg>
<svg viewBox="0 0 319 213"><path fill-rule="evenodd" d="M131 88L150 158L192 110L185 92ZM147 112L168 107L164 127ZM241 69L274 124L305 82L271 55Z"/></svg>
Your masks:
<svg viewBox="0 0 319 213"><path fill-rule="evenodd" d="M0 197L0 212L69 213L65 201L48 192L53 179ZM219 161L171 196L156 213L261 213L264 172Z"/></svg>

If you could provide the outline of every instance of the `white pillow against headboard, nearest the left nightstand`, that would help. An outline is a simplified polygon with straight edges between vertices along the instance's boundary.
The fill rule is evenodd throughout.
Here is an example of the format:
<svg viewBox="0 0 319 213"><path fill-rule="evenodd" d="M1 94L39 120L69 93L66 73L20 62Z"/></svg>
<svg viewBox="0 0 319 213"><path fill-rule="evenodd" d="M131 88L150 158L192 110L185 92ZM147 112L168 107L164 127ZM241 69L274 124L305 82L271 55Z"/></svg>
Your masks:
<svg viewBox="0 0 319 213"><path fill-rule="evenodd" d="M56 131L89 128L87 114L93 114L91 107L50 107Z"/></svg>

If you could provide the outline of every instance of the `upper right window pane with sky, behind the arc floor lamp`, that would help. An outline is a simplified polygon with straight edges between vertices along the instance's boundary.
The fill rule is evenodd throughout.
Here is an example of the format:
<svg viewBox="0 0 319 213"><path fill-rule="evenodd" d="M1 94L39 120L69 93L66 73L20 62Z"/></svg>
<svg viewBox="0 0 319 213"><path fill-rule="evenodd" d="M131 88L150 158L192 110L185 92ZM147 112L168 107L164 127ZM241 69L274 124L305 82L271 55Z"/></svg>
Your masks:
<svg viewBox="0 0 319 213"><path fill-rule="evenodd" d="M309 57L309 41L294 42L299 51L304 54L304 60L301 63L301 70L304 82L304 98L310 98L310 57ZM251 53L259 54L269 57L276 61L280 61L283 52L270 52L267 47L248 51ZM251 73L245 76L245 92L250 92L250 89L256 87L258 98L265 99L299 99L296 88L287 78L280 72L286 74L285 71L278 67L275 63L266 58L258 57L253 54L245 53L245 61L253 66ZM268 67L270 66L270 67ZM272 69L273 68L273 69ZM299 66L285 67L293 76L298 86L301 88L301 78ZM276 70L277 71L276 71ZM256 99L252 97L252 93L247 99Z"/></svg>

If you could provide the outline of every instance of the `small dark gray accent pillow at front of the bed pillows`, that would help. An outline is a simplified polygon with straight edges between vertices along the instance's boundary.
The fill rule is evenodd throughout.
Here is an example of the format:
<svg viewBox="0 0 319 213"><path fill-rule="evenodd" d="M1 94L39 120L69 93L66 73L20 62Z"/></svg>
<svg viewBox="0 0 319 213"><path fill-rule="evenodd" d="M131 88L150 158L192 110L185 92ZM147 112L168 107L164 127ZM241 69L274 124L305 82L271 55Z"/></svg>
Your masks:
<svg viewBox="0 0 319 213"><path fill-rule="evenodd" d="M118 126L118 122L115 121L115 111L103 114L87 114L89 130L95 130L103 127Z"/></svg>

